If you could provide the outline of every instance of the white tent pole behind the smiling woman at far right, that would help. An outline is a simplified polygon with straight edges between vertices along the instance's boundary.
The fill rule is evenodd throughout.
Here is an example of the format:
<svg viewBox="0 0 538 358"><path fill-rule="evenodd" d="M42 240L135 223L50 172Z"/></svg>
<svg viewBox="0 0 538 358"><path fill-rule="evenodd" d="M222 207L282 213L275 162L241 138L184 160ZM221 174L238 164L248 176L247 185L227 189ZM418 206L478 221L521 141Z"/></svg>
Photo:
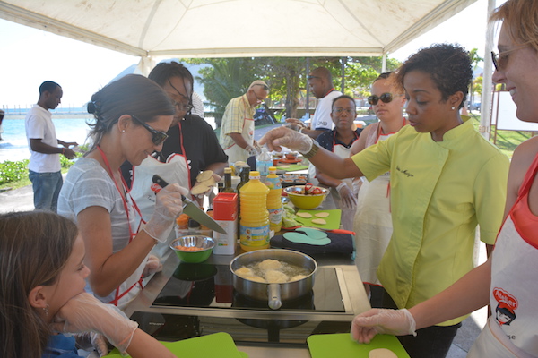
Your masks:
<svg viewBox="0 0 538 358"><path fill-rule="evenodd" d="M495 0L488 0L488 13L486 16L488 20L490 19L490 14L493 13L495 9ZM488 22L486 26L486 43L485 43L485 54L484 54L484 73L482 75L482 99L481 99L481 118L480 118L480 127L479 132L482 136L490 140L491 136L491 91L494 90L493 81L491 79L493 73L493 66L491 62L490 52L493 50L493 35L494 27L493 23Z"/></svg>

